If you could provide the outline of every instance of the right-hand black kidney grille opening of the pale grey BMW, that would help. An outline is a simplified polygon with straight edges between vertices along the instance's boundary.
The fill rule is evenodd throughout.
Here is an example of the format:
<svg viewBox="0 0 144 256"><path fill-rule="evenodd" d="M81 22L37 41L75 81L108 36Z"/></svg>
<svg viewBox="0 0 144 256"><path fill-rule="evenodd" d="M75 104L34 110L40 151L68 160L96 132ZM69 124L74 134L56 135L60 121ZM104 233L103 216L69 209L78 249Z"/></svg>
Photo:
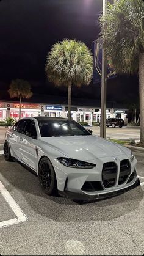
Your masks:
<svg viewBox="0 0 144 256"><path fill-rule="evenodd" d="M131 164L128 159L124 159L120 162L120 175L118 179L118 185L123 184L131 174Z"/></svg>

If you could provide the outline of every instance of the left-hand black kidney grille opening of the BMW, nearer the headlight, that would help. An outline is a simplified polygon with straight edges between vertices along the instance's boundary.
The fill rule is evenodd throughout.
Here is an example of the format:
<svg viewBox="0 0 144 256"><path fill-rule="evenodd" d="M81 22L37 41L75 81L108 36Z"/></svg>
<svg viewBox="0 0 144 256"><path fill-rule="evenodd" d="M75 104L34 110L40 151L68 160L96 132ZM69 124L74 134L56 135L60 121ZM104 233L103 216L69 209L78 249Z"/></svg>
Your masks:
<svg viewBox="0 0 144 256"><path fill-rule="evenodd" d="M103 164L102 181L105 188L115 186L117 180L117 164L107 162Z"/></svg>

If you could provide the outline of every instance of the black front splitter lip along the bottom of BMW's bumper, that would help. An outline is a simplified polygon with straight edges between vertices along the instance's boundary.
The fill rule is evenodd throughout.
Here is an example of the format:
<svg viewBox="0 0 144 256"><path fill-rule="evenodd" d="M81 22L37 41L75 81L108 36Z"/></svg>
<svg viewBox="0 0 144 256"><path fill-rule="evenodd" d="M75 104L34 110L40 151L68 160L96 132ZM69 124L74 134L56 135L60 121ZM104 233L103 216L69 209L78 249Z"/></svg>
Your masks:
<svg viewBox="0 0 144 256"><path fill-rule="evenodd" d="M107 193L103 193L103 194L95 194L95 195L94 194L90 195L90 194L85 194L85 193L79 194L79 193L71 192L71 191L67 191L67 190L59 191L59 194L60 194L60 196L68 197L71 200L91 201L91 200L98 200L98 199L106 199L107 197L118 196L119 194L122 194L131 189L134 189L137 186L140 186L139 178L136 178L135 183L132 184L131 186L124 187L124 188L121 188L121 189L118 189L118 190L115 190L112 192L107 191Z"/></svg>

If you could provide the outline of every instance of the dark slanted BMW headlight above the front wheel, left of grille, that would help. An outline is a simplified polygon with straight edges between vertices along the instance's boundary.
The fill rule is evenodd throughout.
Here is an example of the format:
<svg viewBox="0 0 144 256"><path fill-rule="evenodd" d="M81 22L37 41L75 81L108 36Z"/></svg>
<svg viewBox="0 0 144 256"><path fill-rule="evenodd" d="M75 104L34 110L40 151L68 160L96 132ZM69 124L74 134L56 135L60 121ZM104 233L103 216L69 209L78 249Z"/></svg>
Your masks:
<svg viewBox="0 0 144 256"><path fill-rule="evenodd" d="M71 167L71 168L81 168L81 169L92 169L96 166L96 164L88 163L85 161L79 161L72 158L57 158L63 166Z"/></svg>

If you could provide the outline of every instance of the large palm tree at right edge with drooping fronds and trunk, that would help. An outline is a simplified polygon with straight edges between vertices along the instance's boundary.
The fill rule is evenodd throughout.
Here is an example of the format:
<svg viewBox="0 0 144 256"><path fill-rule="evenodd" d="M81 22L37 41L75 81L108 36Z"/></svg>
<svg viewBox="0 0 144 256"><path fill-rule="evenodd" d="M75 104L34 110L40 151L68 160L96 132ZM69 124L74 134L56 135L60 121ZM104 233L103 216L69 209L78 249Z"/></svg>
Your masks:
<svg viewBox="0 0 144 256"><path fill-rule="evenodd" d="M104 50L117 73L139 73L140 144L144 146L144 3L119 0L107 4ZM103 17L100 18L101 31ZM102 34L100 35L102 37Z"/></svg>

